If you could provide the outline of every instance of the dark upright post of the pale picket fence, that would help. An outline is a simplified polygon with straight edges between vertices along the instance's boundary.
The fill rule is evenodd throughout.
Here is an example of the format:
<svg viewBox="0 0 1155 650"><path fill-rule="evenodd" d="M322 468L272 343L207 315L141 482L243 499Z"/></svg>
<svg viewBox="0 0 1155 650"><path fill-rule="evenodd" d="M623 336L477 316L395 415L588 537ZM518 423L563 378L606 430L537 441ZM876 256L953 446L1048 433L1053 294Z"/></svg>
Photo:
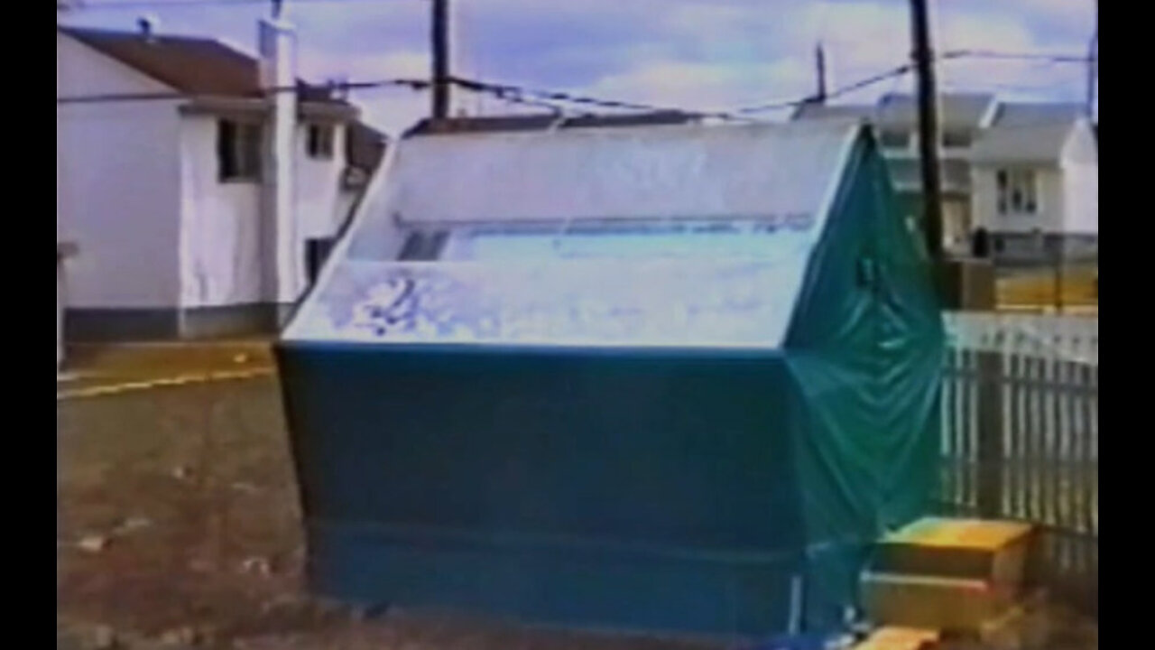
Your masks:
<svg viewBox="0 0 1155 650"><path fill-rule="evenodd" d="M1003 356L984 346L978 361L978 463L976 505L984 518L1003 516Z"/></svg>

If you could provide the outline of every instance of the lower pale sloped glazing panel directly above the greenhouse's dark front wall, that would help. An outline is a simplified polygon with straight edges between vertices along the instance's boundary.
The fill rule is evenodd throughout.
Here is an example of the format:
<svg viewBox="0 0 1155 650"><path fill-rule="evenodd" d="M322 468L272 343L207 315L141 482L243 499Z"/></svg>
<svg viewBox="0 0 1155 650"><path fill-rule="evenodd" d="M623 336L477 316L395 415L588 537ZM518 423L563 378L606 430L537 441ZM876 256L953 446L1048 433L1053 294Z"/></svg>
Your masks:
<svg viewBox="0 0 1155 650"><path fill-rule="evenodd" d="M303 338L775 348L804 264L774 259L346 263Z"/></svg>

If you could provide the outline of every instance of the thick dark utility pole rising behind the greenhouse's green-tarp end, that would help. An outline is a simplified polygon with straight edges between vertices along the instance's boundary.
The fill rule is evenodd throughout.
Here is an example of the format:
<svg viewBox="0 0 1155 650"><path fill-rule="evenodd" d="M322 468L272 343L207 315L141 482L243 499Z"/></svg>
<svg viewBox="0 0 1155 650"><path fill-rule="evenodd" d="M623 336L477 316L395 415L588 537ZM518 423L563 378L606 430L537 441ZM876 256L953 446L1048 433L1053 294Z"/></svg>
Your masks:
<svg viewBox="0 0 1155 650"><path fill-rule="evenodd" d="M918 83L918 160L923 180L923 220L926 251L942 261L942 180L939 176L938 105L934 56L931 50L929 0L910 0L915 71Z"/></svg>

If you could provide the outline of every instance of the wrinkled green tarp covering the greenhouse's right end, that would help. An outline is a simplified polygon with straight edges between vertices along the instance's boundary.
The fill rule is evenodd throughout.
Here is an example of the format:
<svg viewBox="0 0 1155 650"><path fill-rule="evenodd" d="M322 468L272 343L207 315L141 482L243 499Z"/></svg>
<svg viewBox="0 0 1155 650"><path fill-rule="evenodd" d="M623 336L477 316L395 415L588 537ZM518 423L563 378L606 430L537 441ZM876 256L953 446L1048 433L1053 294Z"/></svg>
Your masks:
<svg viewBox="0 0 1155 650"><path fill-rule="evenodd" d="M930 511L944 350L930 266L872 140L859 141L829 219L785 345L818 627L856 604L870 546Z"/></svg>

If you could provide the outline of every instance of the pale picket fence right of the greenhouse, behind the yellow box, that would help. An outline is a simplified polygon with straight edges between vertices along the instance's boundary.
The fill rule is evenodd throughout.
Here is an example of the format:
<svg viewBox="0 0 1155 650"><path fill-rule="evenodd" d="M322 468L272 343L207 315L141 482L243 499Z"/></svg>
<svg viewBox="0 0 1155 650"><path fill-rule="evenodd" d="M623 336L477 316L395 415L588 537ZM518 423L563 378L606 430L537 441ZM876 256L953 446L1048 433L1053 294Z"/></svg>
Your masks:
<svg viewBox="0 0 1155 650"><path fill-rule="evenodd" d="M955 313L944 509L1038 524L1035 575L1097 600L1098 320Z"/></svg>

